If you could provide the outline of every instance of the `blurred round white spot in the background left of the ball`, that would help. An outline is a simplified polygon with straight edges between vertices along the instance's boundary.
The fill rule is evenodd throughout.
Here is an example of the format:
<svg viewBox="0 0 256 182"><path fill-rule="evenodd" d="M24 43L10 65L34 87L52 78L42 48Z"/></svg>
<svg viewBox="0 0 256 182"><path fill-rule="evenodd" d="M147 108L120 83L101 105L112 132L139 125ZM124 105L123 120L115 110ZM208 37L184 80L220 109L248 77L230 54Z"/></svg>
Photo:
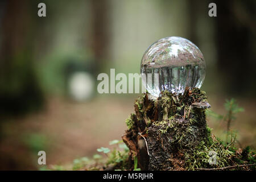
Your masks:
<svg viewBox="0 0 256 182"><path fill-rule="evenodd" d="M68 81L69 94L77 101L88 100L93 96L94 80L86 72L75 72Z"/></svg>

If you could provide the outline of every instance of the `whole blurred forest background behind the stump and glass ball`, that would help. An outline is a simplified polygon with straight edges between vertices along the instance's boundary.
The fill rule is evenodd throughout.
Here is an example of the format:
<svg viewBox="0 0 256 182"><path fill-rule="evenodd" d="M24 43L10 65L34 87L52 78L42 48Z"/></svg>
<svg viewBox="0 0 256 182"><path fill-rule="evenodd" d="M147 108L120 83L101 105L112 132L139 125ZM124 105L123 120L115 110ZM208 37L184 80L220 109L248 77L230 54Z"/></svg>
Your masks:
<svg viewBox="0 0 256 182"><path fill-rule="evenodd" d="M38 16L40 2L46 17ZM217 17L208 16L210 2ZM212 110L224 114L225 99L236 98L245 109L231 126L238 147L255 149L255 7L254 0L1 1L0 169L38 169L40 150L48 165L68 164L121 139L139 94L98 94L97 75L139 73L147 47L167 36L200 48ZM208 124L225 138L225 122Z"/></svg>

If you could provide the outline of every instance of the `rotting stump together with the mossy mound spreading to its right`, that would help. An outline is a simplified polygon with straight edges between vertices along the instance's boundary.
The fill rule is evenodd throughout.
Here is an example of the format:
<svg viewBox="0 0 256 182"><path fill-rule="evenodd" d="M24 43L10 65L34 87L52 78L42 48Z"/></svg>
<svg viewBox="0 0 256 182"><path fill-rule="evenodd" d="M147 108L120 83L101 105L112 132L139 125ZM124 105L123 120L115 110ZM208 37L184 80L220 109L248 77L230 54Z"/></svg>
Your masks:
<svg viewBox="0 0 256 182"><path fill-rule="evenodd" d="M128 162L142 170L255 170L250 147L237 150L211 134L209 107L199 88L186 88L184 94L164 91L156 100L143 94L122 136L130 150Z"/></svg>

